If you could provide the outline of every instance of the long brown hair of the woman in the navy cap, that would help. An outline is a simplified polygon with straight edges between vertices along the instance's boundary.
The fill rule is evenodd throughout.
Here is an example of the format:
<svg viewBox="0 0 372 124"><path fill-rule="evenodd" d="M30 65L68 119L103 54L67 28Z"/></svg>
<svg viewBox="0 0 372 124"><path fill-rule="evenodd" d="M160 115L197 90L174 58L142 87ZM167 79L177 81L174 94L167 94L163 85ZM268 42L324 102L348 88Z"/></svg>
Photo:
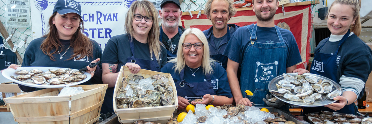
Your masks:
<svg viewBox="0 0 372 124"><path fill-rule="evenodd" d="M48 34L44 35L43 37L45 40L42 42L40 49L43 51L45 55L48 55L49 58L53 61L55 61L55 57L52 56L53 54L57 54L57 50L61 50L59 53L62 53L63 46L61 46L60 37L58 36L57 27L53 24L53 18L57 15L57 12L53 13L52 16L49 18L49 32ZM72 48L74 48L74 55L79 55L80 57L77 59L81 59L85 56L93 56L93 43L89 40L89 38L81 31L84 30L84 24L83 19L80 17L80 26L77 28L75 34L72 36L70 45ZM51 50L55 48L56 51L51 53ZM74 58L74 55L71 55L71 57L68 60L71 60Z"/></svg>

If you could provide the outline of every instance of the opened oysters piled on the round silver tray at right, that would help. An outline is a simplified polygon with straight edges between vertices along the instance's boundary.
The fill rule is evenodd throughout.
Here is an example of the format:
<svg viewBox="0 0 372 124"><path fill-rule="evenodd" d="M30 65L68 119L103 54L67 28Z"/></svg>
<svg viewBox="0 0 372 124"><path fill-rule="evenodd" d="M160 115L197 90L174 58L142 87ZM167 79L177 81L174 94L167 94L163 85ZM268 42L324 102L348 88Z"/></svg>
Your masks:
<svg viewBox="0 0 372 124"><path fill-rule="evenodd" d="M270 93L289 101L313 104L317 100L322 101L323 95L333 99L342 93L341 88L332 90L334 86L329 80L321 80L310 75L289 76L283 73L283 76L284 79L275 84L278 90L270 90Z"/></svg>

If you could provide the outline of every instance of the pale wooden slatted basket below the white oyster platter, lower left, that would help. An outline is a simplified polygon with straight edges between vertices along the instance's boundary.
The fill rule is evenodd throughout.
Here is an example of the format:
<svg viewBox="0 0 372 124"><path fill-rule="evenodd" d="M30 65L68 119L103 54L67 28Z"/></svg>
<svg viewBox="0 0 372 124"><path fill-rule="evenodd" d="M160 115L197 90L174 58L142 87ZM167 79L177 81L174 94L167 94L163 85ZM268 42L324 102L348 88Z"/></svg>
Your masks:
<svg viewBox="0 0 372 124"><path fill-rule="evenodd" d="M58 96L62 88L42 89L5 98L4 102L19 124L92 124L100 116L108 85L71 87L78 86L85 92Z"/></svg>

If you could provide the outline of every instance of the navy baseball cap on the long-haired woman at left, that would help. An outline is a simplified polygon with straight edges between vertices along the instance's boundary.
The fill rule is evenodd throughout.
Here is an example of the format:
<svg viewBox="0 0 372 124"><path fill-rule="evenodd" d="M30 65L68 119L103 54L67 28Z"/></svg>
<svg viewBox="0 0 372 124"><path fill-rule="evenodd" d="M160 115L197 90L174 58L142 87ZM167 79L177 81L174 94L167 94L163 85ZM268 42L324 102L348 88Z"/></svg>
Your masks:
<svg viewBox="0 0 372 124"><path fill-rule="evenodd" d="M76 13L81 17L81 6L75 0L58 0L53 9L53 13L55 12L61 15Z"/></svg>

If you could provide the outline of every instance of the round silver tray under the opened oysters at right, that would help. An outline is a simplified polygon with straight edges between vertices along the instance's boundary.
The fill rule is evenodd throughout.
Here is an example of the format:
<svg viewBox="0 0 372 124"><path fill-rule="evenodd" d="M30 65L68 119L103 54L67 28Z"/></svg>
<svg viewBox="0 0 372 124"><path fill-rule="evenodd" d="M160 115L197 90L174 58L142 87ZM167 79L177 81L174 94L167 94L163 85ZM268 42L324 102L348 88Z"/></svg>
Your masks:
<svg viewBox="0 0 372 124"><path fill-rule="evenodd" d="M287 73L287 74L289 76L298 75L298 73ZM332 91L335 90L335 89L341 88L341 86L339 84L337 84L336 82L334 82L331 79L328 79L327 77L320 76L318 74L311 74L311 73L304 73L302 75L314 76L314 77L317 77L318 79L321 79L321 80L329 80L331 83L333 83ZM278 83L279 80L283 80L283 79L284 79L284 76L283 75L276 76L274 79L272 79L269 82L269 90L278 90L278 88L276 88L276 85L275 84ZM294 93L294 92L292 92L292 93ZM342 95L342 92L341 92L340 95ZM282 96L277 96L277 95L274 95L274 94L273 94L273 96L275 96L276 98L278 98L281 101L284 101L284 102L286 102L288 104L298 105L298 106L305 106L305 107L324 106L324 105L328 105L328 104L331 104L331 103L337 101L337 100L329 99L326 94L322 94L322 98L315 100L315 102L313 104L305 104L302 101L301 102L289 101L288 99L286 99L286 98L284 98Z"/></svg>

